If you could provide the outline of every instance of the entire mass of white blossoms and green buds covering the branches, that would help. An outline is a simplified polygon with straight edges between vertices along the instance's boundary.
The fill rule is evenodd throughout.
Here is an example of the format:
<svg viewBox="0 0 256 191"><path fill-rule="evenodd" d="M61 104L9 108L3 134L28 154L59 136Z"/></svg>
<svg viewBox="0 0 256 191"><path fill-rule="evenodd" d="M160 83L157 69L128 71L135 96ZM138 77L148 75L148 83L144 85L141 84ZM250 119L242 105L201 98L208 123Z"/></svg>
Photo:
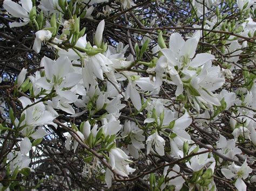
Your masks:
<svg viewBox="0 0 256 191"><path fill-rule="evenodd" d="M16 89L23 93L18 101L23 109L21 117L10 114L10 118L21 141L17 145L19 149L8 154L10 171L29 166L26 154L49 134L45 125L60 128L55 123L59 115L72 118L87 114L89 117L79 127L69 122L64 124L71 126L65 148L76 152L82 142L89 149L86 155L104 158L100 158L100 162L105 170L100 173L105 174L109 188L112 179L129 178L129 174L136 171L133 161L145 155L161 158L167 154L170 159L184 159L164 169L166 181L158 182L161 190L166 186L180 190L185 182L190 190L217 190L213 178L217 168L238 190L246 190L243 180L248 178L252 168L237 143L246 140L256 145L255 74L245 72L248 79L252 79L250 88L222 89L226 81L233 78L233 70L240 69L240 48L248 46L246 41L241 43L234 36L229 37L230 45L223 54L231 53L226 60L230 67L223 68L215 64L218 59L210 51L197 52L203 35L200 31L186 40L180 33L172 33L168 47L159 33L156 57L151 62L143 62L142 56L153 38L146 39L141 48L138 44L134 47L136 58L132 54L126 56L128 45L118 43L113 47L104 43L105 22L102 20L93 37L95 45L86 40L79 19L93 18L93 4L109 1L77 1L69 20L62 17L70 11L63 2L66 1L42 0L37 8L31 0L21 0L21 5L6 0L3 3L11 16L22 20L10 23L10 27L34 25L37 32L33 50L40 53L42 46L47 45L57 58L44 56L40 70L26 77L27 69L23 68L17 77ZM204 11L205 6L200 2L203 1L191 3L198 17L220 3L206 1L208 9ZM120 3L123 9L136 5L131 0L117 1L116 5ZM237 1L240 11L251 9L252 5L253 1ZM84 8L86 14L77 16L76 10ZM49 16L50 20L45 20ZM212 30L217 20L218 15L206 20L205 29ZM226 24L227 30L228 26L232 27ZM256 23L250 16L244 23L233 26L235 34L250 37L255 33ZM224 29L224 24L215 30L219 28ZM147 70L140 66L146 66ZM165 91L163 86L169 87L165 92L168 98L158 97L160 91ZM171 91L174 97L169 96ZM121 120L124 108L131 114L126 121ZM230 133L228 139L223 124L214 130L206 127L208 123L217 122L222 112L230 116L232 135ZM215 145L197 143L200 140L195 137L202 131L214 131L219 137L215 137ZM98 155L91 151L93 149ZM237 162L238 157L244 158L244 162ZM231 164L226 159L234 162ZM181 175L180 162L192 175ZM109 166L104 166L106 164ZM146 177L144 179L150 182Z"/></svg>

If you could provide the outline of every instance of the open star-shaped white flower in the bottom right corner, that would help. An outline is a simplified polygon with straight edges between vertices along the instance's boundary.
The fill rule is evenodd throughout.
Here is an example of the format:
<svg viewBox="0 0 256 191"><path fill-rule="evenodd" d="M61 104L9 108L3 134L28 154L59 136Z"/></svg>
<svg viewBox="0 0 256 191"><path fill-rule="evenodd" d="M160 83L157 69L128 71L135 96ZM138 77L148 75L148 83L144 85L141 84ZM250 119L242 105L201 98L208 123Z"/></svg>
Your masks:
<svg viewBox="0 0 256 191"><path fill-rule="evenodd" d="M228 166L228 168L222 168L221 172L227 179L236 179L235 187L238 191L246 191L246 184L242 179L246 179L252 172L252 168L247 165L246 160L242 166L235 165L234 162L232 162L232 165Z"/></svg>

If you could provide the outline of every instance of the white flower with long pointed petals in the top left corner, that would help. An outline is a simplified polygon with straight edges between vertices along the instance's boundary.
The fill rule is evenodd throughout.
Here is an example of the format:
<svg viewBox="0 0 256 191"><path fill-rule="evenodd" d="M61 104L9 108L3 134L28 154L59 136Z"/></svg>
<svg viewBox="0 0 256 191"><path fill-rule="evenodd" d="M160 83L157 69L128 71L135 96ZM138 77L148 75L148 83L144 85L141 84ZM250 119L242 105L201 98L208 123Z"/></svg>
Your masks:
<svg viewBox="0 0 256 191"><path fill-rule="evenodd" d="M21 0L21 5L15 3L13 1L5 0L3 3L3 7L6 11L8 11L12 16L17 18L22 18L23 22L13 22L10 23L10 27L19 27L24 26L30 22L29 13L32 9L32 1L31 0Z"/></svg>

